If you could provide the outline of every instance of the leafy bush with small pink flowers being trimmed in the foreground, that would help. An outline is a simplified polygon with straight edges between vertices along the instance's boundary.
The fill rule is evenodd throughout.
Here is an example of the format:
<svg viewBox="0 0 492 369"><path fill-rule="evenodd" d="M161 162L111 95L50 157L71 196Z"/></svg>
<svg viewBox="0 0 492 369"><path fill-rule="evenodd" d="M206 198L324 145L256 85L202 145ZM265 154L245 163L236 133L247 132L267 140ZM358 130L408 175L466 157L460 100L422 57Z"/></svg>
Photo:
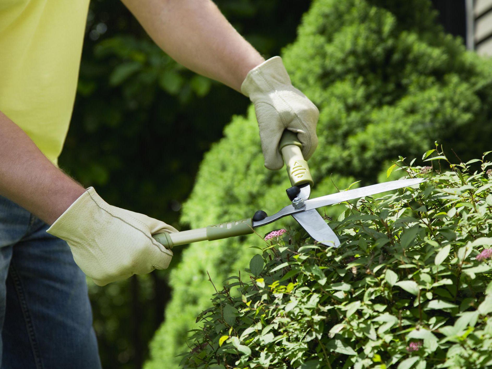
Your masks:
<svg viewBox="0 0 492 369"><path fill-rule="evenodd" d="M345 203L338 249L264 242L200 314L184 368L492 366L492 163L397 164L429 181Z"/></svg>

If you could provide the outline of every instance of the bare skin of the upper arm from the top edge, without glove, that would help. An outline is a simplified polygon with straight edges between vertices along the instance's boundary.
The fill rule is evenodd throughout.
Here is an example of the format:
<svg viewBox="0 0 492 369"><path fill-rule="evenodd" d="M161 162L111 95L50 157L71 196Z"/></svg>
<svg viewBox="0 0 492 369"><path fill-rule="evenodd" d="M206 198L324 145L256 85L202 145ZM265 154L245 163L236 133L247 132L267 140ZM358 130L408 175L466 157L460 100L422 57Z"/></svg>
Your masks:
<svg viewBox="0 0 492 369"><path fill-rule="evenodd" d="M123 0L155 43L177 62L240 91L264 62L211 0Z"/></svg>

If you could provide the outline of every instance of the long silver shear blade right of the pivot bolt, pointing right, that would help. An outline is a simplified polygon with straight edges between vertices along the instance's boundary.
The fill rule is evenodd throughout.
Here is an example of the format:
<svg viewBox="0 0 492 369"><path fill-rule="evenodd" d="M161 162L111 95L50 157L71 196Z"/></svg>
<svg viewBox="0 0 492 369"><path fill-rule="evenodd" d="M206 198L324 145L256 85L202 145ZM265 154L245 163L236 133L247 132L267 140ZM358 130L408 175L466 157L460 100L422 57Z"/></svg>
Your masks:
<svg viewBox="0 0 492 369"><path fill-rule="evenodd" d="M391 191L401 187L408 187L424 182L423 178L412 178L408 180L391 181L380 184L372 184L361 188L349 189L348 191L333 193L331 195L316 197L306 201L306 210L321 208L339 202L358 199L360 197L375 195L376 193Z"/></svg>

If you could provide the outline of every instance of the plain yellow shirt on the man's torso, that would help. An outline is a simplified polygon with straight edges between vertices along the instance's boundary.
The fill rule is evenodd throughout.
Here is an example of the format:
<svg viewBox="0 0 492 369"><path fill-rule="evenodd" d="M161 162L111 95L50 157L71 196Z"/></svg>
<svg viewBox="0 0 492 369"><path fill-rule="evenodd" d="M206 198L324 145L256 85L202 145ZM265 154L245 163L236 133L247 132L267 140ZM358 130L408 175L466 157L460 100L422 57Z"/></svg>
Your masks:
<svg viewBox="0 0 492 369"><path fill-rule="evenodd" d="M73 109L89 0L0 0L0 111L55 164Z"/></svg>

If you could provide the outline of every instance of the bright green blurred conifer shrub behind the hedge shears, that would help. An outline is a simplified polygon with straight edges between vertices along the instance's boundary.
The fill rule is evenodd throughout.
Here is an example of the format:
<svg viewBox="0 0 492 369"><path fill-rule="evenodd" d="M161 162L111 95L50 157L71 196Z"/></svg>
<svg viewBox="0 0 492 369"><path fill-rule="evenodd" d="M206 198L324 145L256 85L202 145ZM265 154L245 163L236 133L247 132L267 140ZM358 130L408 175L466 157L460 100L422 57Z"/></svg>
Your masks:
<svg viewBox="0 0 492 369"><path fill-rule="evenodd" d="M320 110L319 146L309 160L313 196L374 183L399 154L413 157L434 140L463 160L484 152L492 136L492 64L465 51L436 26L428 0L315 0L297 40L283 51L292 82ZM384 169L386 170L386 169ZM385 176L384 176L385 177ZM182 221L192 228L271 214L286 204L284 170L263 167L252 108L235 117L205 155ZM336 208L328 215L338 214ZM289 226L288 219L274 227ZM210 306L213 288L244 269L260 246L243 237L198 243L171 271L173 298L151 345L147 369L177 368L187 331Z"/></svg>

